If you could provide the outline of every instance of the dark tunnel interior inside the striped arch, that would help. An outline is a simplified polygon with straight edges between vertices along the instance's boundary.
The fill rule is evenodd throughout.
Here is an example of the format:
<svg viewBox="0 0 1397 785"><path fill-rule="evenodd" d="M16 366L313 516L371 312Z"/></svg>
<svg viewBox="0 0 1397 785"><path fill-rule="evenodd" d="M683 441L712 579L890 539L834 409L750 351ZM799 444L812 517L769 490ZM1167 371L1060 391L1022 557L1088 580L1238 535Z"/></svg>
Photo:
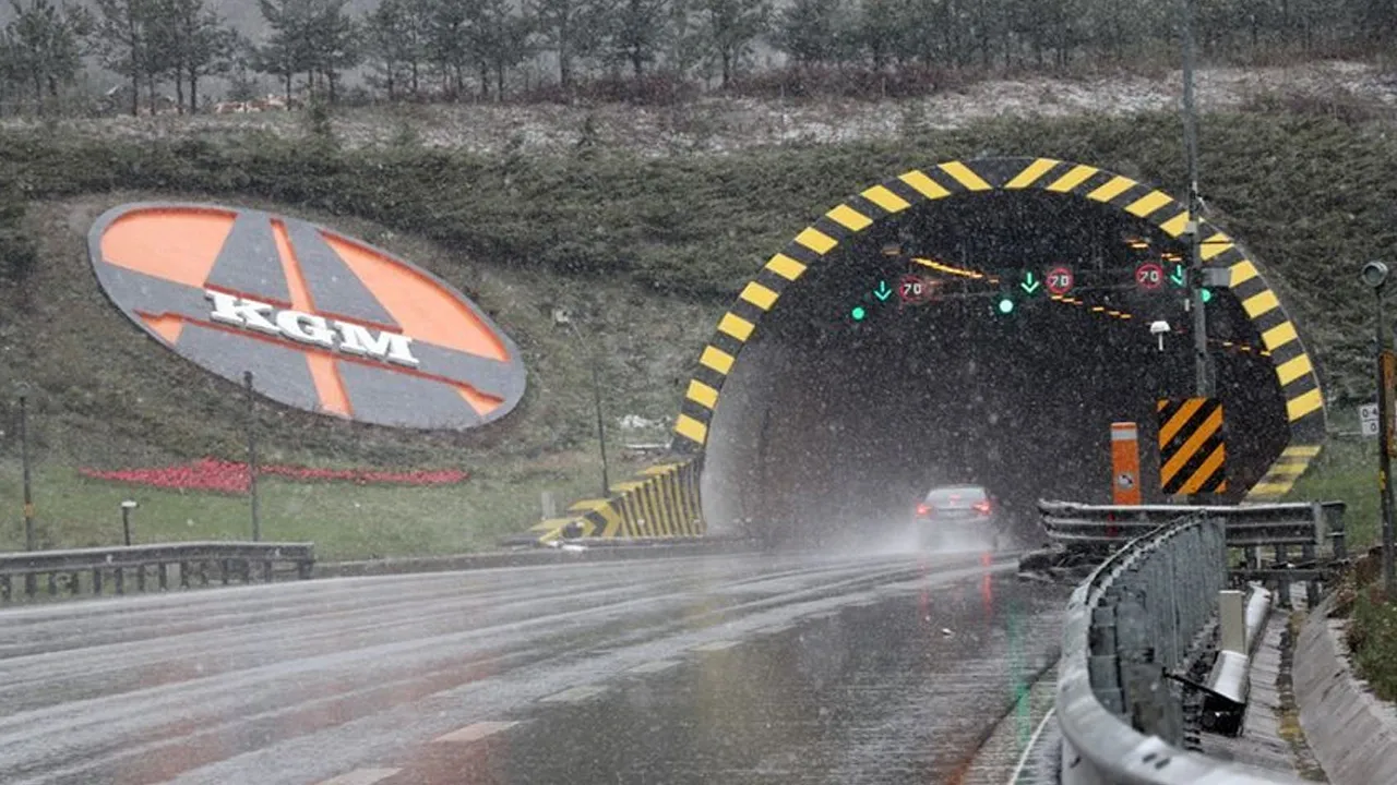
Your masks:
<svg viewBox="0 0 1397 785"><path fill-rule="evenodd" d="M782 293L724 384L701 475L710 529L891 541L932 486L970 482L1032 539L1038 499L1111 501L1111 423L1125 420L1144 500L1162 501L1155 399L1194 384L1186 289L1169 281L1187 253L1143 219L1046 191L929 203L842 243ZM1151 263L1158 289L1137 282ZM1073 289L1055 299L1045 278L1062 265ZM904 302L908 275L928 302ZM1289 433L1241 305L1221 289L1206 313L1225 409L1218 499L1232 501ZM1162 351L1157 320L1172 328Z"/></svg>

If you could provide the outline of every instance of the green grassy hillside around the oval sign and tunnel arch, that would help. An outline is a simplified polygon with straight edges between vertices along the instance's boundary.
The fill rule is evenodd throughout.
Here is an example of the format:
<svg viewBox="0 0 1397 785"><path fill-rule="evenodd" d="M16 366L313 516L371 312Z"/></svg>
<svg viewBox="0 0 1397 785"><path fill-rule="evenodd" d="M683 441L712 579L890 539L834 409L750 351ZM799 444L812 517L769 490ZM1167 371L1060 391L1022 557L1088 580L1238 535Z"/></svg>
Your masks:
<svg viewBox="0 0 1397 785"><path fill-rule="evenodd" d="M1340 401L1369 388L1369 299L1356 267L1397 250L1397 140L1387 131L1323 112L1221 115L1203 129L1204 196L1280 274ZM726 300L844 196L911 166L978 155L1088 161L1179 193L1179 142L1176 119L1160 115L682 158L599 147L482 158L409 140L344 151L257 134L217 145L8 134L0 180L31 200L27 228L42 258L28 275L4 271L0 397L8 405L18 384L32 386L41 455L54 476L74 465L237 457L233 386L126 323L99 293L82 244L91 218L112 204L217 198L327 222L423 264L502 323L532 372L517 415L468 434L395 433L258 406L271 460L502 467L499 478L536 474L539 461L553 460L546 471L556 482L576 483L594 468L556 455L592 448L588 358L552 325L552 307L571 309L598 335L610 415L671 415ZM0 446L0 455L15 455L13 439ZM0 483L0 493L10 490ZM518 528L528 518L486 511L500 515L513 522L462 525Z"/></svg>

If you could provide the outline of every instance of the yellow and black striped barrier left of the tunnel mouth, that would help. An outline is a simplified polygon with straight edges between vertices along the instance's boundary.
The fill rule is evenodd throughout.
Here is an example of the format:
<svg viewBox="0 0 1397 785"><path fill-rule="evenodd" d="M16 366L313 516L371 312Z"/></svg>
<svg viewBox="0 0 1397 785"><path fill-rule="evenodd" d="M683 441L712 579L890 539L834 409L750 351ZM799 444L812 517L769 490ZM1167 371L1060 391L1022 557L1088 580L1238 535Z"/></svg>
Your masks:
<svg viewBox="0 0 1397 785"><path fill-rule="evenodd" d="M612 486L608 499L583 499L569 515L529 528L536 542L559 539L685 539L705 534L698 507L698 461L659 464Z"/></svg>

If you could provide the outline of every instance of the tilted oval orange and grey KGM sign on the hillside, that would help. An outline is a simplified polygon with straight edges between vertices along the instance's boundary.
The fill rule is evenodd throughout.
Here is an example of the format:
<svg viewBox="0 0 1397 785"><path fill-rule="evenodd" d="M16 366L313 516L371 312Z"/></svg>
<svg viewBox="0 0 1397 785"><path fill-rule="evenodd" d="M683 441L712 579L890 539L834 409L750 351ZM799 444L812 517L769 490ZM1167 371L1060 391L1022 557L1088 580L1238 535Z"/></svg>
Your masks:
<svg viewBox="0 0 1397 785"><path fill-rule="evenodd" d="M106 295L161 344L300 409L467 429L524 395L518 349L475 303L324 226L208 204L126 204L88 235Z"/></svg>

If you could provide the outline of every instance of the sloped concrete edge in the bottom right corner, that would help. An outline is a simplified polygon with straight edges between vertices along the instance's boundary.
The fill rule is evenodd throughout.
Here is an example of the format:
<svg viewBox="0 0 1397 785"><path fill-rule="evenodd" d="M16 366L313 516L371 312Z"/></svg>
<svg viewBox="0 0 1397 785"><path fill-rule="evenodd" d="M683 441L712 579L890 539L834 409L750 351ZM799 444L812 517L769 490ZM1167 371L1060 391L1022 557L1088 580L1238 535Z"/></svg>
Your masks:
<svg viewBox="0 0 1397 785"><path fill-rule="evenodd" d="M1334 602L1310 613L1295 643L1301 728L1333 785L1397 782L1397 711L1354 673Z"/></svg>

